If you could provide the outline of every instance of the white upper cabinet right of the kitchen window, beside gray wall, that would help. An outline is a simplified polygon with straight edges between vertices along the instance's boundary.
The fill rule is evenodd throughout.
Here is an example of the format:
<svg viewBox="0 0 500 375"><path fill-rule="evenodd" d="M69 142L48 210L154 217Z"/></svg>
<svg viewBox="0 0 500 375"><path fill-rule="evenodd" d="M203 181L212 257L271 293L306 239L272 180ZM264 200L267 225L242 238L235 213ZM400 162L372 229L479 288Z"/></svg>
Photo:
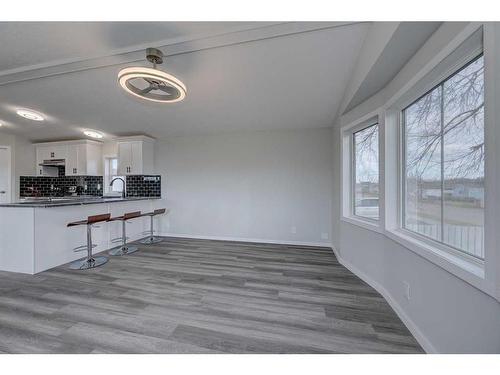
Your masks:
<svg viewBox="0 0 500 375"><path fill-rule="evenodd" d="M154 139L137 136L119 138L118 174L121 176L154 173Z"/></svg>

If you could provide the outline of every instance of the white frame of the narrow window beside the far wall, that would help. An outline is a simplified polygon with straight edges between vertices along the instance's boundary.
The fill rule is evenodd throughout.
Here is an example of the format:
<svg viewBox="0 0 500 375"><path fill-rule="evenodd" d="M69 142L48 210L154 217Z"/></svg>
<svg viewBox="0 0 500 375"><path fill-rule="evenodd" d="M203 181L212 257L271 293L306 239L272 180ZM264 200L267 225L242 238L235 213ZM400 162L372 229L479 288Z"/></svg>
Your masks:
<svg viewBox="0 0 500 375"><path fill-rule="evenodd" d="M367 228L374 231L381 231L381 222L383 220L382 214L382 174L381 174L381 152L382 152L382 136L381 136L381 126L378 114L370 114L365 116L359 121L353 122L348 126L341 129L341 139L342 139L342 173L343 173L343 183L342 183L342 215L341 220ZM371 219L354 214L354 204L355 204L355 155L354 155L354 133L357 133L363 129L369 128L370 126L378 126L378 157L379 157L379 218Z"/></svg>

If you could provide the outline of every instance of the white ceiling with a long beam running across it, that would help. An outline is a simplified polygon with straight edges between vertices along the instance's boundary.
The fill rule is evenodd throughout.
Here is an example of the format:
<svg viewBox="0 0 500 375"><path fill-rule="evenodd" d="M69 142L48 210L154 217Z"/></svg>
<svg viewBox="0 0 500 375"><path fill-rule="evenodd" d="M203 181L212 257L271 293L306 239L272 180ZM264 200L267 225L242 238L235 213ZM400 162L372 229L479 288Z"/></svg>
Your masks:
<svg viewBox="0 0 500 375"><path fill-rule="evenodd" d="M0 24L0 122L33 141L81 138L83 128L159 138L331 126L368 29L369 23ZM147 65L133 61L148 45L173 54L161 69L186 84L183 102L148 103L118 86L121 68ZM22 119L18 107L47 121Z"/></svg>

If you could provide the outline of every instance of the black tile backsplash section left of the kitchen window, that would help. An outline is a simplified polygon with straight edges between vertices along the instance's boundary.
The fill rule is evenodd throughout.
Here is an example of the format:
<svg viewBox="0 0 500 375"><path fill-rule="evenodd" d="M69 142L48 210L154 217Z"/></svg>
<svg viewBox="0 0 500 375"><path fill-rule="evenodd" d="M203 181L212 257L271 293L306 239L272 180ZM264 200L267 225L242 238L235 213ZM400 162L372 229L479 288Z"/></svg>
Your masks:
<svg viewBox="0 0 500 375"><path fill-rule="evenodd" d="M58 197L70 195L70 186L76 186L78 195L103 195L102 176L21 176L19 178L19 195L21 197Z"/></svg>

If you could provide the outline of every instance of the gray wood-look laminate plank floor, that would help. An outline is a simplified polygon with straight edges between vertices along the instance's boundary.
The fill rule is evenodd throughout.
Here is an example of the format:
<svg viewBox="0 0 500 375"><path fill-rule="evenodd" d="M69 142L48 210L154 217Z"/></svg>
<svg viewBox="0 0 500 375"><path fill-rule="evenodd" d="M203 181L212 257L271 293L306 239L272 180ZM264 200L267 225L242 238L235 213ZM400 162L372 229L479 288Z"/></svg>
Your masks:
<svg viewBox="0 0 500 375"><path fill-rule="evenodd" d="M169 237L90 271L0 272L0 352L422 349L331 249Z"/></svg>

